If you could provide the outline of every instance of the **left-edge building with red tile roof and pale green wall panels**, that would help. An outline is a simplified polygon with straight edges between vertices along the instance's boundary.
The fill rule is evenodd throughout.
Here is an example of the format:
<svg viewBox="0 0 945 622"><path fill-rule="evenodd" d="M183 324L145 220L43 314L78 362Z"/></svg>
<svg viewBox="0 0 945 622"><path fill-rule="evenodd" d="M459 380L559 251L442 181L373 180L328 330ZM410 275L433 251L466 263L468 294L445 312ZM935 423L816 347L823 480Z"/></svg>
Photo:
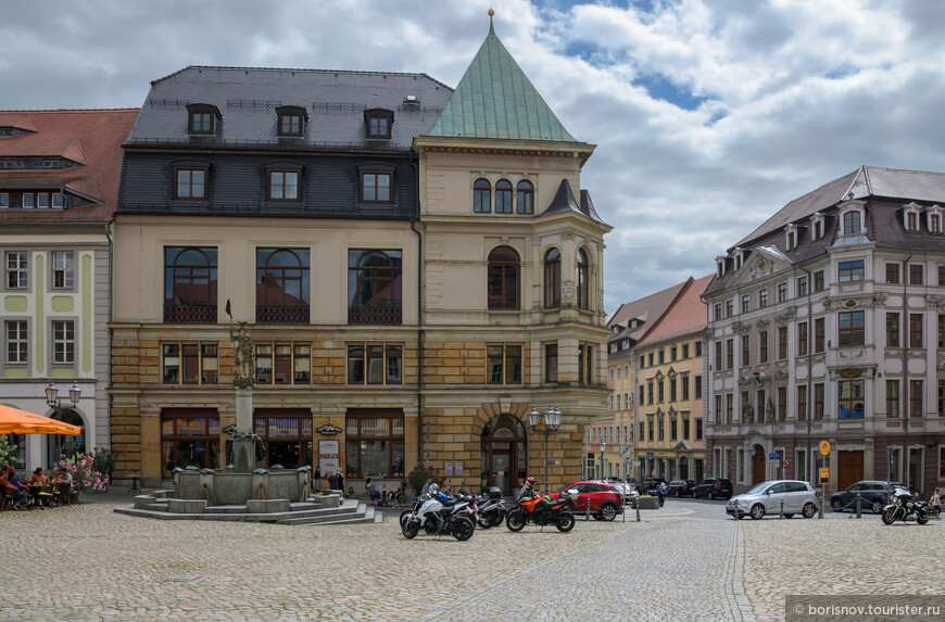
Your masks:
<svg viewBox="0 0 945 622"><path fill-rule="evenodd" d="M110 444L111 220L137 110L0 111L0 404L81 428L16 437L21 470ZM46 389L59 390L50 408ZM70 389L80 398L73 404Z"/></svg>

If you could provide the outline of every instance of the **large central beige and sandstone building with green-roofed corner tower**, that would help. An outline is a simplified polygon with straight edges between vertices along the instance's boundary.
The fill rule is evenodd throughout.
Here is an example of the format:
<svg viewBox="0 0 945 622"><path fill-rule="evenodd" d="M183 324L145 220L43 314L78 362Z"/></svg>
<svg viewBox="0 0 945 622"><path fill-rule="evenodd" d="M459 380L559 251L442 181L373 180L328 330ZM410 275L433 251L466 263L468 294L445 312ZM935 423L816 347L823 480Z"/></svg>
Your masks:
<svg viewBox="0 0 945 622"><path fill-rule="evenodd" d="M115 220L113 422L148 481L222 467L231 310L263 466L507 494L580 475L606 408L603 236L564 128L490 24L423 74L188 67L152 82ZM545 439L528 414L556 406ZM539 427L539 430L541 427Z"/></svg>

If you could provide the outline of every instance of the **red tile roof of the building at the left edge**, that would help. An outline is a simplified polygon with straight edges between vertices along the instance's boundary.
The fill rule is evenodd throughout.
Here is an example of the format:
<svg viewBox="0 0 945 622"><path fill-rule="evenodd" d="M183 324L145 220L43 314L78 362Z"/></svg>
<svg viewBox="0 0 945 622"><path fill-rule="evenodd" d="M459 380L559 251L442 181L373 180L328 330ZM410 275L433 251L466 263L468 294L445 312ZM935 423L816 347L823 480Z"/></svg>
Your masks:
<svg viewBox="0 0 945 622"><path fill-rule="evenodd" d="M0 189L66 188L96 204L70 210L0 210L0 220L23 223L106 223L118 198L122 143L138 109L0 111L0 127L30 134L0 138L0 157L61 156L81 166L60 170L0 169Z"/></svg>

